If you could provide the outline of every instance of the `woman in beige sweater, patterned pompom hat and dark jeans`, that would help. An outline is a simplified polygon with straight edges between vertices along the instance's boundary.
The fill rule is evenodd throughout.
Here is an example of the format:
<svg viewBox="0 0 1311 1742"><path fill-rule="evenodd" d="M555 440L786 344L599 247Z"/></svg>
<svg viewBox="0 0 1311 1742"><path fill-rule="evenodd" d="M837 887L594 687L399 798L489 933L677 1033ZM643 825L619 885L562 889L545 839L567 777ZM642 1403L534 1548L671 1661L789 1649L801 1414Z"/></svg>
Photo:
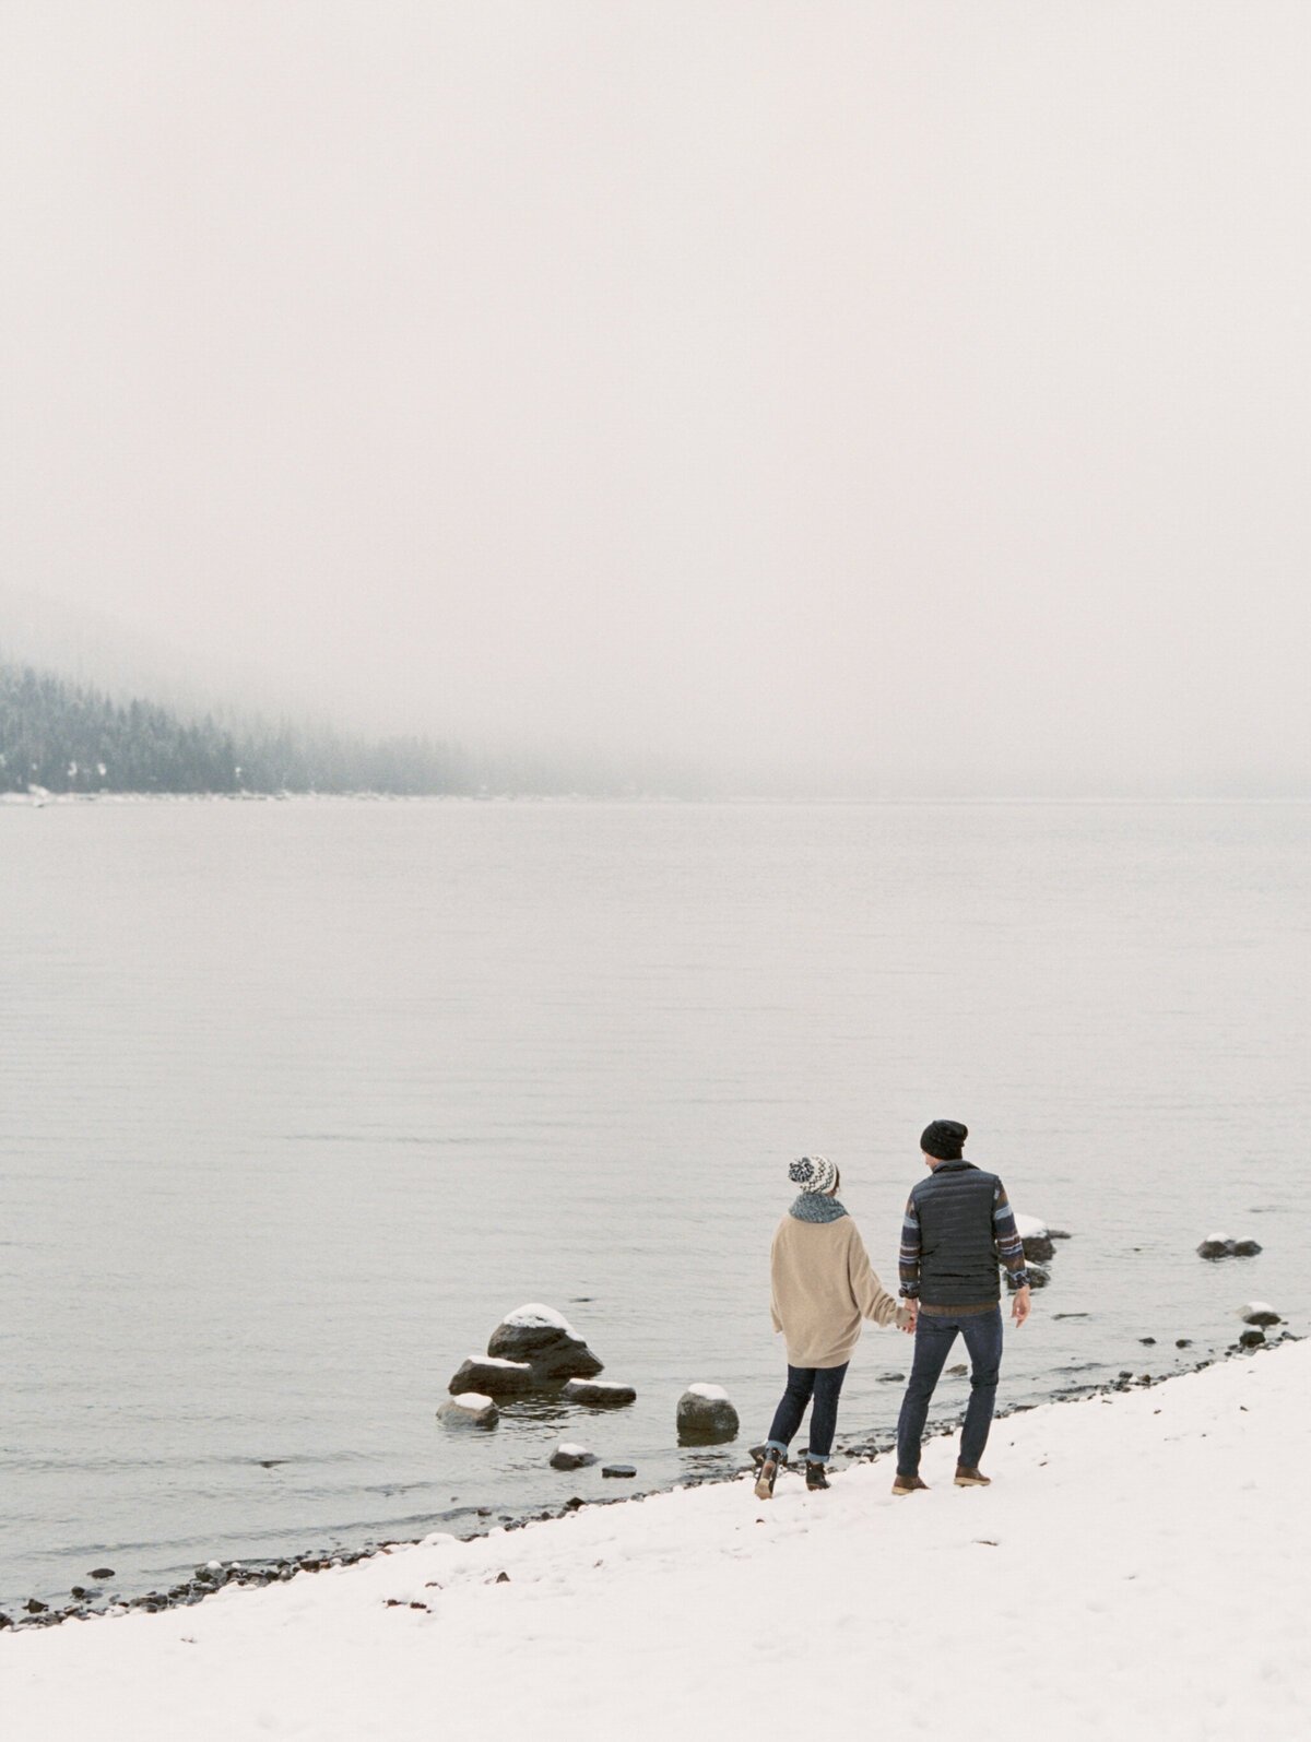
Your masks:
<svg viewBox="0 0 1311 1742"><path fill-rule="evenodd" d="M847 1376L861 1319L907 1329L910 1313L898 1306L870 1268L856 1223L837 1200L840 1176L823 1155L804 1155L788 1167L800 1195L778 1225L769 1251L771 1317L788 1345L788 1388L765 1441L755 1491L771 1500L779 1463L811 1411L805 1486L828 1488L825 1463L833 1449L837 1401Z"/></svg>

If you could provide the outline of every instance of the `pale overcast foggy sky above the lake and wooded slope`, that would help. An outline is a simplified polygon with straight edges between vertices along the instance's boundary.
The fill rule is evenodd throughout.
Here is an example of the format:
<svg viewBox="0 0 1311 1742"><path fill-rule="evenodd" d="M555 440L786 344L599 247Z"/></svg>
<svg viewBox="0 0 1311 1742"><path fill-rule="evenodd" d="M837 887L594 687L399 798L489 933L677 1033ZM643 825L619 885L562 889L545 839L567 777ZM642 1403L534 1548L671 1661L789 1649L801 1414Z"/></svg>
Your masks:
<svg viewBox="0 0 1311 1742"><path fill-rule="evenodd" d="M1308 791L1306 0L0 30L10 587L343 721Z"/></svg>

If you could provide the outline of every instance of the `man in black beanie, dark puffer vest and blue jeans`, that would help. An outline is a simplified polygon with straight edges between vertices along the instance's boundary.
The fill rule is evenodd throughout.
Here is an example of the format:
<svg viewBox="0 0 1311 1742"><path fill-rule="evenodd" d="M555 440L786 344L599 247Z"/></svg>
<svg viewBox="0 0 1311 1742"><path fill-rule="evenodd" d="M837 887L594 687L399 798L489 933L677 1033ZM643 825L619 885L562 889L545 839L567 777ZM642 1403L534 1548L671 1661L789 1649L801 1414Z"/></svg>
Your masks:
<svg viewBox="0 0 1311 1742"><path fill-rule="evenodd" d="M1029 1317L1029 1272L1006 1188L995 1174L964 1160L969 1131L934 1118L919 1139L929 1178L910 1193L901 1225L901 1294L915 1315L915 1361L896 1425L894 1495L927 1488L919 1475L924 1421L957 1333L969 1350L969 1408L961 1430L957 1488L987 1488L980 1472L992 1427L1001 1367L1001 1280L997 1258L1015 1287L1011 1319Z"/></svg>

